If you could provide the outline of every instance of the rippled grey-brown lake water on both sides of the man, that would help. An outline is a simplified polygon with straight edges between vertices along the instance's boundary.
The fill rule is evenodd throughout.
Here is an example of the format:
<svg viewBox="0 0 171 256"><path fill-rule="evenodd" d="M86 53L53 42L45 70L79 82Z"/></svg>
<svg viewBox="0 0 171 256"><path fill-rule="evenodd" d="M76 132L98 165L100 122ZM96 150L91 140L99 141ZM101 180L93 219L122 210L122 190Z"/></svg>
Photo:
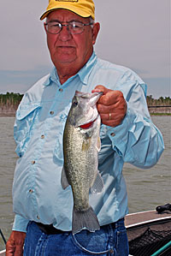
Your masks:
<svg viewBox="0 0 171 256"><path fill-rule="evenodd" d="M152 116L160 128L165 142L165 151L159 162L150 170L140 170L125 164L128 206L130 212L154 210L157 205L171 203L171 116ZM11 188L17 156L13 139L14 117L0 118L0 229L6 239L11 232L14 214ZM4 248L0 237L0 250Z"/></svg>

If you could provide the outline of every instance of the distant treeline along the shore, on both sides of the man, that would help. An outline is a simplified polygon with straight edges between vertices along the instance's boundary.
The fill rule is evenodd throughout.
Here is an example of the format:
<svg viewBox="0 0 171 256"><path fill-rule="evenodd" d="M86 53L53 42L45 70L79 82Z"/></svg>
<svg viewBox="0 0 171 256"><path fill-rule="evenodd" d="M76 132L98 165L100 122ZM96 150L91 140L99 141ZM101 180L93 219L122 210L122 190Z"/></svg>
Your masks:
<svg viewBox="0 0 171 256"><path fill-rule="evenodd" d="M17 109L21 102L23 94L7 92L6 94L0 94L0 108L14 108ZM170 97L160 97L158 99L153 98L152 95L147 96L147 104L149 106L171 106Z"/></svg>

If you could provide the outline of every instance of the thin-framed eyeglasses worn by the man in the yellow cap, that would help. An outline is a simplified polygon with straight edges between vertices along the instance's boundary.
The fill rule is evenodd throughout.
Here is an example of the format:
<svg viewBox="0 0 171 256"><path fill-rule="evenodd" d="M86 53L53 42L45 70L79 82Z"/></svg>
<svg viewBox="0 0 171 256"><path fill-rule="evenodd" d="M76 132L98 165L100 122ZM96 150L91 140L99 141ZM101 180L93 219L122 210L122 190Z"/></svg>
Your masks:
<svg viewBox="0 0 171 256"><path fill-rule="evenodd" d="M58 21L49 21L44 25L48 33L60 33L62 31L62 27L67 27L70 33L78 34L83 33L85 26L90 26L93 24L92 22L85 24L79 21L70 21L66 23L68 24L62 24Z"/></svg>

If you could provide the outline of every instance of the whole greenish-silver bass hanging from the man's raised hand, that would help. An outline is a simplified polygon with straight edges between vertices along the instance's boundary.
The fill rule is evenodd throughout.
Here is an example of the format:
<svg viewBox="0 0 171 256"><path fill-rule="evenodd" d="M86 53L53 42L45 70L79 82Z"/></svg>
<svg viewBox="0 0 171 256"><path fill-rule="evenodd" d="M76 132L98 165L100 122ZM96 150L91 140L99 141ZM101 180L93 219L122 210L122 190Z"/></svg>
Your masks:
<svg viewBox="0 0 171 256"><path fill-rule="evenodd" d="M95 232L100 229L96 213L89 205L89 193L103 191L103 178L97 170L100 151L101 118L97 100L103 92L75 92L63 132L63 158L61 183L70 185L74 207L72 233L82 229Z"/></svg>

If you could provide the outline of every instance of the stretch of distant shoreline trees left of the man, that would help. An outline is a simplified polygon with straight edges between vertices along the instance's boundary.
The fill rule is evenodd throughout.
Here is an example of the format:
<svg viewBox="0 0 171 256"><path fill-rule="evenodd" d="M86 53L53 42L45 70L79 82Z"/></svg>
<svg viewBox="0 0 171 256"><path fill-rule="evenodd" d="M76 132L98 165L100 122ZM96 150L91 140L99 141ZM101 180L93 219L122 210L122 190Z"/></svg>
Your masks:
<svg viewBox="0 0 171 256"><path fill-rule="evenodd" d="M21 102L23 94L7 92L6 94L0 94L0 108L3 109L17 109Z"/></svg>

